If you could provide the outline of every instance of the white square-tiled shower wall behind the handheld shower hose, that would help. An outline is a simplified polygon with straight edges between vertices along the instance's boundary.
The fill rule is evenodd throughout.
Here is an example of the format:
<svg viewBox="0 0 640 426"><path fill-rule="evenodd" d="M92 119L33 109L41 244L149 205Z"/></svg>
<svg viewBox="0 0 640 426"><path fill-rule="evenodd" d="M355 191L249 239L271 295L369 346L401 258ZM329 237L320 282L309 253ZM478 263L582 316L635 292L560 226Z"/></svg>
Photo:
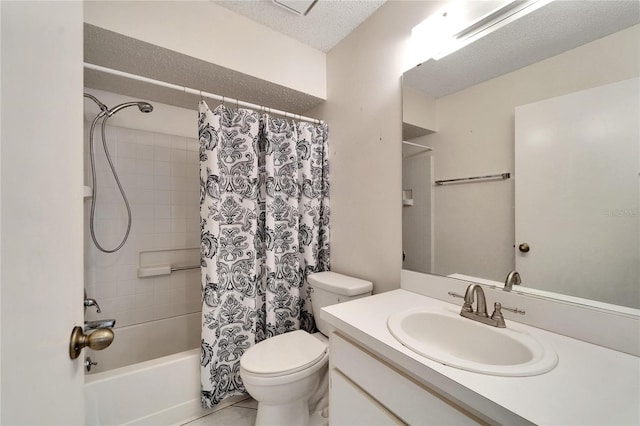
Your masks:
<svg viewBox="0 0 640 426"><path fill-rule="evenodd" d="M132 108L133 109L133 108ZM137 111L136 111L137 112ZM88 141L90 123L85 123ZM95 234L105 248L119 244L126 231L126 208L95 132L98 201ZM87 320L115 318L117 326L199 312L200 270L138 278L141 251L198 249L200 245L198 141L192 138L107 126L108 148L127 194L131 232L116 253L100 252L89 233L90 199L85 198L85 283L102 313L86 309ZM88 142L87 142L88 144ZM85 183L92 186L89 149ZM187 263L198 265L197 250ZM173 253L173 252L170 252Z"/></svg>

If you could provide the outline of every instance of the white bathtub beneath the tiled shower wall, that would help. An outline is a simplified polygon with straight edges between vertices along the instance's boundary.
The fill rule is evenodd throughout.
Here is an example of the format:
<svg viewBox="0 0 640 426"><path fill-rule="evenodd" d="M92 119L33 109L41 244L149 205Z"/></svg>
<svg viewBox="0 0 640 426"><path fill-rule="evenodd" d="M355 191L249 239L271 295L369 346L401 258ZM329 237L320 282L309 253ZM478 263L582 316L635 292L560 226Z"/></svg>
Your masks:
<svg viewBox="0 0 640 426"><path fill-rule="evenodd" d="M110 347L84 356L98 362L85 375L85 425L173 425L215 411L200 407L199 312L116 328Z"/></svg>

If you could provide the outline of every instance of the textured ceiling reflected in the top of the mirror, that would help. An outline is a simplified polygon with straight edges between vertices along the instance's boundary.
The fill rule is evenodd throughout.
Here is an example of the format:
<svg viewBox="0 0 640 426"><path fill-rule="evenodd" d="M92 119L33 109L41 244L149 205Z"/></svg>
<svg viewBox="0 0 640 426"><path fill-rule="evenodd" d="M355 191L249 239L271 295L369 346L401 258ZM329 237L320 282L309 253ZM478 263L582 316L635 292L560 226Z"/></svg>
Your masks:
<svg viewBox="0 0 640 426"><path fill-rule="evenodd" d="M403 83L439 98L639 22L636 0L554 1L449 56L407 71Z"/></svg>

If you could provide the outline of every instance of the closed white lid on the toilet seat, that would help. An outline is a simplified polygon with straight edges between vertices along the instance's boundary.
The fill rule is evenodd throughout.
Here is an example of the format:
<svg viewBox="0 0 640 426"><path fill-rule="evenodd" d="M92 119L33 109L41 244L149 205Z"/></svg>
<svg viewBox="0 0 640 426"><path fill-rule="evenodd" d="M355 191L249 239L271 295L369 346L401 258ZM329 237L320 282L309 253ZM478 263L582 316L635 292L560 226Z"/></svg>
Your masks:
<svg viewBox="0 0 640 426"><path fill-rule="evenodd" d="M297 330L252 346L240 358L240 366L254 374L294 373L315 364L326 352L326 344Z"/></svg>

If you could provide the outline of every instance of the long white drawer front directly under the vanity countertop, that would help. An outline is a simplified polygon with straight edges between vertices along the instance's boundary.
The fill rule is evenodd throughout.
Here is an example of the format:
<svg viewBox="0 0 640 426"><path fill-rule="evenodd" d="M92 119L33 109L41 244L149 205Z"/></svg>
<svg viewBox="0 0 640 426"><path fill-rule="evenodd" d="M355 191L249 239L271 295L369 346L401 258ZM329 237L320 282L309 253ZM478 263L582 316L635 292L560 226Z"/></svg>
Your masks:
<svg viewBox="0 0 640 426"><path fill-rule="evenodd" d="M481 424L460 407L336 333L331 335L330 354L332 369L339 370L403 422L410 425Z"/></svg>

